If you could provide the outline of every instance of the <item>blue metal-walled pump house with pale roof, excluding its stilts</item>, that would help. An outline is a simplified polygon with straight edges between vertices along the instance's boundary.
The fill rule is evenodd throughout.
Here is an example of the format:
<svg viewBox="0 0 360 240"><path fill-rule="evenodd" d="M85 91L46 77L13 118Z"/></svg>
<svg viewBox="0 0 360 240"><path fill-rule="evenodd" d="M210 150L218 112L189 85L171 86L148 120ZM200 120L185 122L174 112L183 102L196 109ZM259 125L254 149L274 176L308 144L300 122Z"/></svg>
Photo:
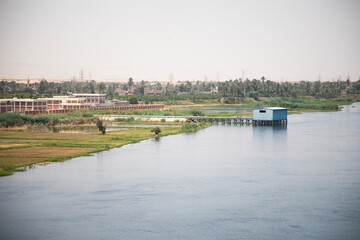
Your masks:
<svg viewBox="0 0 360 240"><path fill-rule="evenodd" d="M287 120L287 108L268 107L253 110L255 121L280 121Z"/></svg>

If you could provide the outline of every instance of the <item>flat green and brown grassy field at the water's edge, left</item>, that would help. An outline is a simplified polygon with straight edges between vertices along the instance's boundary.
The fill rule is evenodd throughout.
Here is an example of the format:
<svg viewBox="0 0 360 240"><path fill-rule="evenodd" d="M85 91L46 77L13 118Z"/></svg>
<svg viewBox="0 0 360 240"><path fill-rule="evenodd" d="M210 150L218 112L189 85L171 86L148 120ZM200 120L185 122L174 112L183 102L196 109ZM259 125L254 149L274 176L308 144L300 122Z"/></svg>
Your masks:
<svg viewBox="0 0 360 240"><path fill-rule="evenodd" d="M164 127L161 127L162 125ZM197 131L209 125L156 123L156 126L161 129L160 137ZM27 132L1 129L0 176L11 175L16 171L26 171L36 165L65 161L158 137L151 132L152 129L153 126L131 127L127 125L127 128L106 134Z"/></svg>

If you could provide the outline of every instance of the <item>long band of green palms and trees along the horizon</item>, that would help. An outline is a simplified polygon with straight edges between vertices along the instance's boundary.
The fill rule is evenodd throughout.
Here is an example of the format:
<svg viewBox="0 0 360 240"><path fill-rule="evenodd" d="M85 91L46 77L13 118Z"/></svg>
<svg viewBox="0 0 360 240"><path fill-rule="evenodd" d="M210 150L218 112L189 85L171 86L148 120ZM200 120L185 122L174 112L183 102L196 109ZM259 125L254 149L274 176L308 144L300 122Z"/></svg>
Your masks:
<svg viewBox="0 0 360 240"><path fill-rule="evenodd" d="M160 96L144 96L144 88L151 86L161 90ZM345 81L299 81L275 82L265 77L253 80L228 80L224 82L178 82L176 84L140 81L132 78L126 83L86 81L51 82L45 79L31 84L2 80L0 82L0 97L37 98L41 96L66 95L71 93L104 93L110 99L130 99L133 96L120 96L116 89L128 90L132 87L135 98L140 101L164 101L185 99L217 99L224 98L228 103L241 101L245 98L258 100L260 97L298 97L312 96L316 98L336 98L342 94L360 94L360 80ZM212 91L215 90L216 91ZM212 92L212 93L210 93Z"/></svg>

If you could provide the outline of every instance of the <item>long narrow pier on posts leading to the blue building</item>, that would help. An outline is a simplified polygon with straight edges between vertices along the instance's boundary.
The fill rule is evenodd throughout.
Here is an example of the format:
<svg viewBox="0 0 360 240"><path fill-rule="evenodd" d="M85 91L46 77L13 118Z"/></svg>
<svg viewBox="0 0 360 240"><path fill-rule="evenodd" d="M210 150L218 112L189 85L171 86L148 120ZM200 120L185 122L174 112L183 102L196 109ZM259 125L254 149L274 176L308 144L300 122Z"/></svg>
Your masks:
<svg viewBox="0 0 360 240"><path fill-rule="evenodd" d="M103 120L115 120L117 118L134 118L141 120L159 121L164 119L167 122L210 122L217 124L246 124L255 126L272 126L272 125L286 125L287 120L264 121L253 120L251 117L209 117L209 116L147 116L147 115L94 115Z"/></svg>

